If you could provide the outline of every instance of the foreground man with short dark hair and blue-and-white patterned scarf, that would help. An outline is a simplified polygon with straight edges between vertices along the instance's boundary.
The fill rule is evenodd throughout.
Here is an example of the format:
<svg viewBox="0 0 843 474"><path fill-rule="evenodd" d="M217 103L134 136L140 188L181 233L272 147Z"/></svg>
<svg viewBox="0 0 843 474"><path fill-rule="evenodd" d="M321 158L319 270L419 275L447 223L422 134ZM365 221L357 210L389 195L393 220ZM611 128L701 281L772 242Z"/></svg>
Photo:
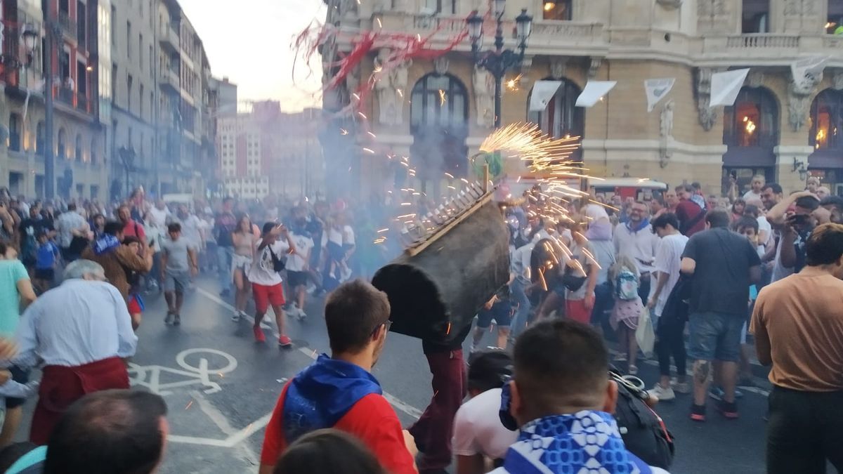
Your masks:
<svg viewBox="0 0 843 474"><path fill-rule="evenodd" d="M618 386L597 331L571 320L541 322L518 337L514 359L505 391L521 433L492 474L666 474L620 438L611 414Z"/></svg>

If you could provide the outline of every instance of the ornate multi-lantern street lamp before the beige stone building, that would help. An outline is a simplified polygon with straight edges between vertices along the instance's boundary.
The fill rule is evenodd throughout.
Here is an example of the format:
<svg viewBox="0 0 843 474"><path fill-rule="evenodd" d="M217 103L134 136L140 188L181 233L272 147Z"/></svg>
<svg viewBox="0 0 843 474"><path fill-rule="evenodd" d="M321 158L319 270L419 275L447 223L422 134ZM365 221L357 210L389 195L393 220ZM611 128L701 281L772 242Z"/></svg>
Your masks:
<svg viewBox="0 0 843 474"><path fill-rule="evenodd" d="M521 10L521 14L515 18L515 31L518 40L518 52L503 49L503 12L506 8L506 0L492 0L492 14L495 15L497 30L495 30L495 49L481 54L483 46L483 18L477 10L471 12L465 23L469 28L469 39L471 40L471 54L478 66L486 69L495 78L495 128L501 127L501 86L503 76L514 67L519 67L524 60L524 50L527 49L527 40L533 31L533 17L527 14L527 8Z"/></svg>

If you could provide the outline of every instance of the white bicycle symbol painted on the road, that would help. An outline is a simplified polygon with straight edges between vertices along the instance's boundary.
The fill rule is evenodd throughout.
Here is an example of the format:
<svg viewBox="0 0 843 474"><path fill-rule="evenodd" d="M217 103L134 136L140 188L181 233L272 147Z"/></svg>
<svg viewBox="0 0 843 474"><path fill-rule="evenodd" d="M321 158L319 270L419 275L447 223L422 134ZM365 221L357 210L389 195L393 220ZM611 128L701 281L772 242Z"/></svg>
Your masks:
<svg viewBox="0 0 843 474"><path fill-rule="evenodd" d="M213 365L208 362L209 359L214 362ZM191 365L192 362L196 362L196 365ZM129 363L129 381L132 385L146 387L161 396L172 394L173 389L190 385L202 385L205 387L204 392L211 394L223 390L217 382L211 380L211 375L222 377L223 374L237 369L237 359L234 356L208 348L182 351L175 356L175 363L179 364L181 369Z"/></svg>

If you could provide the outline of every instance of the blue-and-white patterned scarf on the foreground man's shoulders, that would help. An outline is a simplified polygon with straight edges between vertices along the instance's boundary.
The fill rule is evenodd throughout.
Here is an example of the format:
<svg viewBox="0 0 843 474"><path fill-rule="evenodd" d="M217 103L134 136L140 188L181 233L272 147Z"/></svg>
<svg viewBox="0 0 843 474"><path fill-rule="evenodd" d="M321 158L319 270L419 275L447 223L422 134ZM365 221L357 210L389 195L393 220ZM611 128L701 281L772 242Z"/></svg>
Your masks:
<svg viewBox="0 0 843 474"><path fill-rule="evenodd" d="M654 474L626 450L609 413L583 411L543 417L521 428L495 474Z"/></svg>

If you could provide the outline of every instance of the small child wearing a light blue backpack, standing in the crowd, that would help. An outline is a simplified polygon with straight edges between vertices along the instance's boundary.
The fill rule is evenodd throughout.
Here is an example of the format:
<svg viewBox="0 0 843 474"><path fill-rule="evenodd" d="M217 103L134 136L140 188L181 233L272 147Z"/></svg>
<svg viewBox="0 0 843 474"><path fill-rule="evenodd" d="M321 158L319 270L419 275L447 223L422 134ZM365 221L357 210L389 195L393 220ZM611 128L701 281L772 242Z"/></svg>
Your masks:
<svg viewBox="0 0 843 474"><path fill-rule="evenodd" d="M615 308L612 309L609 322L612 329L618 331L620 342L620 354L615 360L628 360L627 372L635 375L638 373L638 342L635 331L638 327L638 317L644 310L644 304L638 296L639 275L635 262L628 256L618 256L615 265L609 269L609 279L615 285Z"/></svg>

